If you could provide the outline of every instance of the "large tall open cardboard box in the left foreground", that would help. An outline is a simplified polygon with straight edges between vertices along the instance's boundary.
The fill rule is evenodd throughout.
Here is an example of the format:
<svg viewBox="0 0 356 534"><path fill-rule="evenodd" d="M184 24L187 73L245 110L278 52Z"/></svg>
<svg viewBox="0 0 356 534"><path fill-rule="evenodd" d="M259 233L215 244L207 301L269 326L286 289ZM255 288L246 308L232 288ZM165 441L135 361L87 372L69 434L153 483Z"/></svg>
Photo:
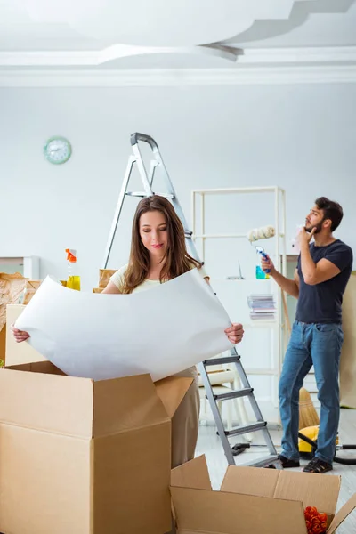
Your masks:
<svg viewBox="0 0 356 534"><path fill-rule="evenodd" d="M0 369L0 532L170 530L171 417L190 384Z"/></svg>

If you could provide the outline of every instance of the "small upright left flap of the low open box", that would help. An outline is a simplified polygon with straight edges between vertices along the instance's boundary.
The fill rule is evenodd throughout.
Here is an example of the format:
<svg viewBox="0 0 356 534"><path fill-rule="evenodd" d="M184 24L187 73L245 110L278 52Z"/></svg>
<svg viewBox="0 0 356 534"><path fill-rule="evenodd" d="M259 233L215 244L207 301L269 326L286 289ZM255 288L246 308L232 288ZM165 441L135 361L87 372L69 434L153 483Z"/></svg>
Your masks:
<svg viewBox="0 0 356 534"><path fill-rule="evenodd" d="M206 457L202 455L172 469L171 486L211 490Z"/></svg>

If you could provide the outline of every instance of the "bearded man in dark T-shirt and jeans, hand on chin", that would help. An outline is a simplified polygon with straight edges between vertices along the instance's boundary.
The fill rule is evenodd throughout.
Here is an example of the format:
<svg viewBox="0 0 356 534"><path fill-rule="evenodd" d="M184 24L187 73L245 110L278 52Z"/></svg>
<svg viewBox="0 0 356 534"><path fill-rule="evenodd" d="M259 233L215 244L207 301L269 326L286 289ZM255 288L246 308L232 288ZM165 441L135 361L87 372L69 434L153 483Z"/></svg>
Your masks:
<svg viewBox="0 0 356 534"><path fill-rule="evenodd" d="M303 471L326 473L333 468L339 422L338 372L344 335L341 305L352 272L352 249L333 236L343 218L342 207L320 197L315 200L305 227L298 235L300 255L294 279L277 271L267 257L263 270L270 269L279 287L298 299L295 323L279 381L279 409L283 426L283 467L299 466L299 390L314 366L320 427L315 457ZM311 239L314 238L312 245Z"/></svg>

